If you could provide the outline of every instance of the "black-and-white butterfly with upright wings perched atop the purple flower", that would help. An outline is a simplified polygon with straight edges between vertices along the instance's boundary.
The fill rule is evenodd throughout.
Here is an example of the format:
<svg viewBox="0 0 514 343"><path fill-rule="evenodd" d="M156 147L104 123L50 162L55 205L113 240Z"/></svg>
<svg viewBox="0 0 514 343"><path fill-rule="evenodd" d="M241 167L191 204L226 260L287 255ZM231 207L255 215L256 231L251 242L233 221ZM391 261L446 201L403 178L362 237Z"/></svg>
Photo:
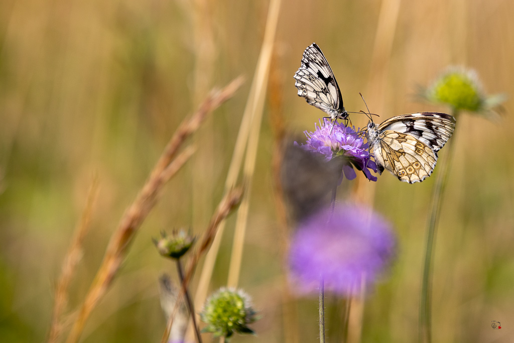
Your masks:
<svg viewBox="0 0 514 343"><path fill-rule="evenodd" d="M348 119L332 68L316 43L303 52L302 65L295 73L295 79L298 95L309 104L326 112L333 121Z"/></svg>

